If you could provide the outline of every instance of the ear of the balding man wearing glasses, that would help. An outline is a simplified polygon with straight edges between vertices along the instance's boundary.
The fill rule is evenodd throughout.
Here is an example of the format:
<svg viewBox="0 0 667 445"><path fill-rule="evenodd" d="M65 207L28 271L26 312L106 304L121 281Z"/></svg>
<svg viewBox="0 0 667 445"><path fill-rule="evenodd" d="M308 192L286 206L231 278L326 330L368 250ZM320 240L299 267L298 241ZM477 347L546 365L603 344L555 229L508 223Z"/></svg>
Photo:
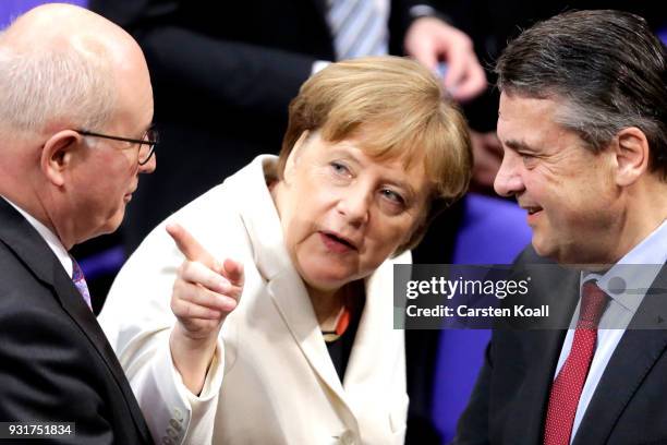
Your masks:
<svg viewBox="0 0 667 445"><path fill-rule="evenodd" d="M47 140L41 149L40 166L44 175L54 185L62 187L65 172L72 167L76 149L81 149L83 136L73 130L62 130Z"/></svg>

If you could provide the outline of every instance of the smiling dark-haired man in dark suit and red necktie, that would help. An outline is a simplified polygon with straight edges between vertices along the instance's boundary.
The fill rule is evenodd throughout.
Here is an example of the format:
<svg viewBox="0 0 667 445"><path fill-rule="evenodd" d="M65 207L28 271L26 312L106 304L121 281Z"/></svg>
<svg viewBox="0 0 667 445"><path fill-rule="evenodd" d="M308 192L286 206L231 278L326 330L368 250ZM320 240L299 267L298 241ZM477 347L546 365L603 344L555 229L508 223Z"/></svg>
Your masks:
<svg viewBox="0 0 667 445"><path fill-rule="evenodd" d="M495 188L533 229L514 272L559 328L495 329L454 443L667 443L665 48L636 15L569 12L496 71Z"/></svg>

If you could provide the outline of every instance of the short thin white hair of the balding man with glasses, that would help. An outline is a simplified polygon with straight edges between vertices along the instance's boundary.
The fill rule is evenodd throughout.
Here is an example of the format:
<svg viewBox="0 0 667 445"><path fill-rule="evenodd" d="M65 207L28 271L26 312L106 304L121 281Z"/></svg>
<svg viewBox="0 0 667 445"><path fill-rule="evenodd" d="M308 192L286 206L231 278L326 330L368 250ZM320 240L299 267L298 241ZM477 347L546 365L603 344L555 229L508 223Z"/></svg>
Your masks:
<svg viewBox="0 0 667 445"><path fill-rule="evenodd" d="M113 70L106 57L72 47L12 48L0 33L0 130L40 134L51 124L96 129L114 111Z"/></svg>

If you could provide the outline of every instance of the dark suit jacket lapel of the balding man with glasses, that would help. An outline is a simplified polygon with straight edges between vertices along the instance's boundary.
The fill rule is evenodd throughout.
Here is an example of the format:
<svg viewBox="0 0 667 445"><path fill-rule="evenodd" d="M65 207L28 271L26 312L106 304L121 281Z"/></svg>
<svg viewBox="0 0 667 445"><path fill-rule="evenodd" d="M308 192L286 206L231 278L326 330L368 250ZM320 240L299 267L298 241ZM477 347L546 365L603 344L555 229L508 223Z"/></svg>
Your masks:
<svg viewBox="0 0 667 445"><path fill-rule="evenodd" d="M111 346L99 327L95 315L84 302L51 249L33 226L2 199L0 199L0 219L2 220L0 239L35 274L37 279L53 290L64 311L93 344L113 375L125 398L137 431L144 436L145 442L150 442L148 428Z"/></svg>

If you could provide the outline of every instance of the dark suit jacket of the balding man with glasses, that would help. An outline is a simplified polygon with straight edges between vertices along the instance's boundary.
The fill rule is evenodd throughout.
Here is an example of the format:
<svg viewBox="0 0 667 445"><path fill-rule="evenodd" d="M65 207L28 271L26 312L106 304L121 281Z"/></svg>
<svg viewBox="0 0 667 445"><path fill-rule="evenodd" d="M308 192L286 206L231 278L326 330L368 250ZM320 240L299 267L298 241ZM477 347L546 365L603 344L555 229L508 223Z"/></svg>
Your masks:
<svg viewBox="0 0 667 445"><path fill-rule="evenodd" d="M0 274L0 421L75 422L62 443L151 443L95 316L46 241L2 199Z"/></svg>

